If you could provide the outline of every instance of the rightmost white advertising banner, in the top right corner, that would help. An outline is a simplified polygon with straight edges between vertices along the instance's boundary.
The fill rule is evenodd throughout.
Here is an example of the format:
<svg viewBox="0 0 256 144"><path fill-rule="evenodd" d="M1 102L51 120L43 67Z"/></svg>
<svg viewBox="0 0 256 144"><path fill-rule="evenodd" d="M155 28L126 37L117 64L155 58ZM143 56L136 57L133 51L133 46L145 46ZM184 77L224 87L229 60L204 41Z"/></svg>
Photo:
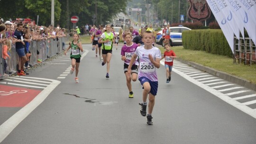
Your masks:
<svg viewBox="0 0 256 144"><path fill-rule="evenodd" d="M228 3L229 9L231 9L237 16L238 20L243 23L246 28L249 37L256 44L256 19L253 13L256 6L248 6L250 10L245 10L245 6L241 3L241 0L225 0ZM239 2L240 1L240 2ZM250 1L250 0L249 0ZM245 1L244 1L245 2ZM254 8L254 9L251 9ZM248 12L247 12L248 11Z"/></svg>

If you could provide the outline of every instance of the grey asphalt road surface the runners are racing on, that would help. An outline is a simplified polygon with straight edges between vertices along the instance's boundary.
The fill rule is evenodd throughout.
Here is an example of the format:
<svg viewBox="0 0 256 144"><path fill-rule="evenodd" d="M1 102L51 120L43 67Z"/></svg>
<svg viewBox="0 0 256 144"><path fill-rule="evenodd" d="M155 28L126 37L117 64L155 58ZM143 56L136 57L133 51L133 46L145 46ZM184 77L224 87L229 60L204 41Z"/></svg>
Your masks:
<svg viewBox="0 0 256 144"><path fill-rule="evenodd" d="M207 86L188 81L176 71L171 82L165 83L163 65L157 70L154 125L146 125L146 117L139 112L138 103L142 101L139 81L132 82L135 96L128 98L121 45L113 50L109 79L105 78L106 65L101 66L91 45L83 45L86 52L80 63L79 83L74 82L74 73L68 74L67 55L46 61L26 76L53 80L46 88L8 84L45 93L36 96L42 103L37 102L34 109L0 107L0 130L4 130L0 136L10 131L0 144L256 144L254 115L248 115L219 98L222 95L216 96L218 93L213 94ZM7 84L0 84L3 86ZM31 113L23 116L20 123L5 123L24 108ZM20 112L20 115L25 114Z"/></svg>

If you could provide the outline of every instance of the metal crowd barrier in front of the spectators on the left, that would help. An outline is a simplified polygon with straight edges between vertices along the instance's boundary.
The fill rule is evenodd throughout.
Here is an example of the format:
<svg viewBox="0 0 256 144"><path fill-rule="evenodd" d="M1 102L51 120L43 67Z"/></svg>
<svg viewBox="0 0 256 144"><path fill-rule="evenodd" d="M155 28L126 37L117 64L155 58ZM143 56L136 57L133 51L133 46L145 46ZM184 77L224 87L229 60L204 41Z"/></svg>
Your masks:
<svg viewBox="0 0 256 144"><path fill-rule="evenodd" d="M29 64L35 65L38 59L44 61L47 57L52 57L56 54L63 52L65 49L65 42L69 41L69 35L60 38L51 38L42 41L32 40L29 45L29 52L31 53ZM37 54L39 52L39 54ZM15 44L12 45L11 50L8 52L10 59L6 58L7 72L4 72L3 60L3 44L0 44L0 78L10 75L18 71L18 54L16 53Z"/></svg>

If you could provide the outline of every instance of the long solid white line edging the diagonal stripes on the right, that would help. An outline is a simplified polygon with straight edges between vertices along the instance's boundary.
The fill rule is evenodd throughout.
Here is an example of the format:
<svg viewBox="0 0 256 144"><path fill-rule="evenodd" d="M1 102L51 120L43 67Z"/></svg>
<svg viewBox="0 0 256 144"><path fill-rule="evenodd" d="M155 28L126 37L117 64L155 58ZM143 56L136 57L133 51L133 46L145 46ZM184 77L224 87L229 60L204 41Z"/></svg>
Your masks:
<svg viewBox="0 0 256 144"><path fill-rule="evenodd" d="M160 62L162 65L164 65L165 63ZM230 99L230 97L227 94L223 94L221 92L219 92L218 90L212 89L211 87L203 84L202 82L193 79L192 77L188 76L187 74L180 72L178 70L176 70L175 68L173 68L173 71L177 74L179 74L180 76L182 76L184 79L194 83L195 85L201 87L204 90L209 91L210 93L212 93L213 95L215 95L216 97L218 97L219 99L222 99L223 101L229 103L230 105L240 109L241 111L247 113L248 115L256 118L256 112L254 109L247 107L246 105L241 105L241 103L239 103L238 101L234 100L234 99Z"/></svg>

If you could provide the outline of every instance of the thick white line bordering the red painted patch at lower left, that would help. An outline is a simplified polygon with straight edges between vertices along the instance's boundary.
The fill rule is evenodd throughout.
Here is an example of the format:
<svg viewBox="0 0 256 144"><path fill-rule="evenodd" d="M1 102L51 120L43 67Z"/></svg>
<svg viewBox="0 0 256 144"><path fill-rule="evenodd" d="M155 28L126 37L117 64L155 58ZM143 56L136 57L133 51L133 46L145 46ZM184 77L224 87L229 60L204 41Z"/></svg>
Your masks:
<svg viewBox="0 0 256 144"><path fill-rule="evenodd" d="M42 80L42 78L39 79ZM18 124L24 118L26 118L35 108L37 108L37 106L39 106L48 97L48 95L58 86L58 84L60 84L60 81L50 79L45 80L52 81L52 83L49 84L44 90L42 90L31 102L21 108L18 112L16 112L12 117L10 117L0 126L0 143L11 133L11 131L16 126L18 126Z"/></svg>

